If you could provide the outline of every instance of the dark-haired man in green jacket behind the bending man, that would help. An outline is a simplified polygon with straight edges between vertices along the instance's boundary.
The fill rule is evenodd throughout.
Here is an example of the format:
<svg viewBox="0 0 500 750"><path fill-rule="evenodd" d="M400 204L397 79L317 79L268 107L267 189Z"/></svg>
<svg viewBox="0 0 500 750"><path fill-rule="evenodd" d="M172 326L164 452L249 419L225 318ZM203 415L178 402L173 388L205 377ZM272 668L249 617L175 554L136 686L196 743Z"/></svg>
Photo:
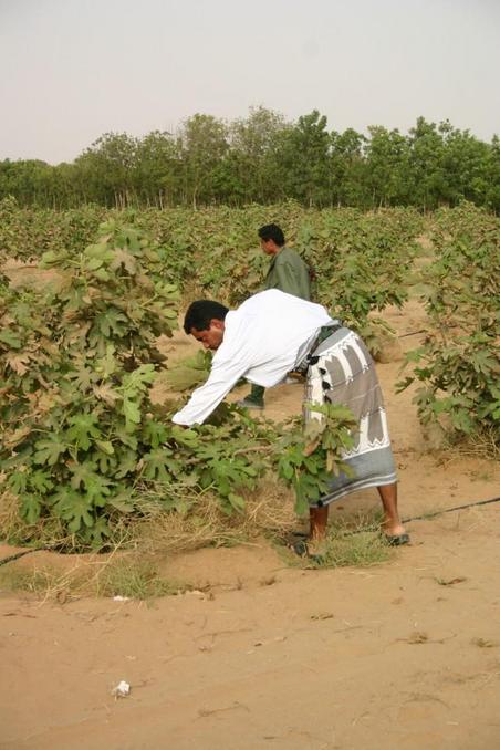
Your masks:
<svg viewBox="0 0 500 750"><path fill-rule="evenodd" d="M271 256L264 290L279 289L281 292L311 300L311 269L295 250L285 247L284 235L277 223L268 223L258 231L260 244L267 256ZM265 388L252 385L248 396L238 402L248 409L264 408Z"/></svg>

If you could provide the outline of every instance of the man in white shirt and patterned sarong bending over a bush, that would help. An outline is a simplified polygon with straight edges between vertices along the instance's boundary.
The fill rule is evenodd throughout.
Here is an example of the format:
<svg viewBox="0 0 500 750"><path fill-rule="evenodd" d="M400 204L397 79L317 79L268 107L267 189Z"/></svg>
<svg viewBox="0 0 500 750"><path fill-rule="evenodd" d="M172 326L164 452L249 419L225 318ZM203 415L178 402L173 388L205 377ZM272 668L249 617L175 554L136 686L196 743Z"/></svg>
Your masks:
<svg viewBox="0 0 500 750"><path fill-rule="evenodd" d="M233 311L219 302L192 302L184 329L216 354L207 382L174 415L174 423L202 424L240 377L270 388L289 372L304 372L306 404L342 404L360 425L355 446L343 456L353 476L332 476L329 493L311 507L310 540L324 538L332 501L376 487L388 542L409 541L397 511L396 469L381 387L357 334L330 317L322 305L279 290L253 294ZM321 416L306 409L305 419L314 418Z"/></svg>

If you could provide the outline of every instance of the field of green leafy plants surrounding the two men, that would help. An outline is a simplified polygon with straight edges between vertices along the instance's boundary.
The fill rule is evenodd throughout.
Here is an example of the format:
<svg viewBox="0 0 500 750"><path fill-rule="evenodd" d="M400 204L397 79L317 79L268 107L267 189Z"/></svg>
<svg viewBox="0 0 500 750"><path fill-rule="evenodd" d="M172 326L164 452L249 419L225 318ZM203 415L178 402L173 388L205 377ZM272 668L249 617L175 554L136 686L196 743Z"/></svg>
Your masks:
<svg viewBox="0 0 500 750"><path fill-rule="evenodd" d="M345 409L329 409L308 457L298 419L256 420L226 404L200 427L169 420L209 362L200 353L169 367L158 342L192 299L236 305L259 289L269 261L257 229L269 221L314 268L316 300L375 355L392 336L384 311L418 295L428 324L399 387L418 383L415 408L448 442L498 449L500 221L481 209L58 212L4 199L0 537L106 549L152 509L194 528L200 498L221 518L241 514L269 477L293 488L299 512L321 494L325 466L341 466L348 440ZM152 387L169 374L169 397L153 403Z"/></svg>

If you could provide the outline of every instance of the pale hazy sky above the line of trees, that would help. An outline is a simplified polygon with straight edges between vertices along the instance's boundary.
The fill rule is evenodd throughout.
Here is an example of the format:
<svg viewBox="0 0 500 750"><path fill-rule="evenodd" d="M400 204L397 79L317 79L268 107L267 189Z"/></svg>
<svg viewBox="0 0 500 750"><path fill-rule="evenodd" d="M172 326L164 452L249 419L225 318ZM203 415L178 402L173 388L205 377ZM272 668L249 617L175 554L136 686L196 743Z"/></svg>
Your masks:
<svg viewBox="0 0 500 750"><path fill-rule="evenodd" d="M0 159L263 105L500 133L500 0L0 0Z"/></svg>

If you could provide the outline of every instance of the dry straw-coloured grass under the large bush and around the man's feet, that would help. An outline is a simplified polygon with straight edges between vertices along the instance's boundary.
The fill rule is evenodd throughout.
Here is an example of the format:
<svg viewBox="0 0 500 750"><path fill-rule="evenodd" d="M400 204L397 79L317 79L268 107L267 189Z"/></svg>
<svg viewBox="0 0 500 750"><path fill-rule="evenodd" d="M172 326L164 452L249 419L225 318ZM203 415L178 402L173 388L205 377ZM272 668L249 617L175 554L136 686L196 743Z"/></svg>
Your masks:
<svg viewBox="0 0 500 750"><path fill-rule="evenodd" d="M179 499L188 488L178 488ZM188 496L186 494L186 499ZM81 596L126 596L150 598L185 591L187 586L169 581L159 573L158 563L174 555L206 546L233 546L267 537L279 550L287 550L290 532L298 528L291 493L271 480L259 493L248 492L241 513L227 515L213 494L189 497L189 512L166 511L158 493L145 494L140 502L142 518L118 529L111 552L106 554L56 555L46 550L60 548L61 529L56 522L40 521L29 528L39 551L0 566L0 590L27 591L42 602L64 603ZM321 561L305 561L308 566L366 566L385 562L390 550L377 531L379 513L357 513L335 519L330 527L325 553ZM21 530L15 499L3 496L0 504L3 532ZM55 525L54 525L55 524ZM25 540L27 529L22 527ZM55 538L53 537L55 534ZM58 543L55 542L58 540ZM72 540L65 540L66 550ZM74 541L74 540L73 540ZM40 551L44 546L45 551ZM288 555L289 564L304 564Z"/></svg>

